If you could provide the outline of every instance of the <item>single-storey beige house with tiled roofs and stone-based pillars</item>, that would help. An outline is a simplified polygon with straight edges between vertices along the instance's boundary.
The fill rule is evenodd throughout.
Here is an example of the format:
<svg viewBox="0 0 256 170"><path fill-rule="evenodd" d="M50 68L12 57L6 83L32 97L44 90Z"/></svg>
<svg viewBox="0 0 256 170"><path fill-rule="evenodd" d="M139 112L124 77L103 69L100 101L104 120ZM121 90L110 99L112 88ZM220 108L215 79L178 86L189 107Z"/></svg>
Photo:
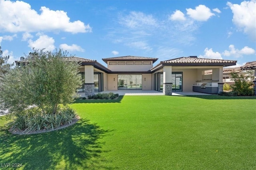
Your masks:
<svg viewBox="0 0 256 170"><path fill-rule="evenodd" d="M165 95L192 91L217 94L223 91L223 67L236 65L236 61L196 56L160 61L156 66L153 64L157 58L136 56L102 59L107 67L80 57L66 60L81 63L79 74L84 84L78 92L86 96L106 90L135 89L162 91Z"/></svg>

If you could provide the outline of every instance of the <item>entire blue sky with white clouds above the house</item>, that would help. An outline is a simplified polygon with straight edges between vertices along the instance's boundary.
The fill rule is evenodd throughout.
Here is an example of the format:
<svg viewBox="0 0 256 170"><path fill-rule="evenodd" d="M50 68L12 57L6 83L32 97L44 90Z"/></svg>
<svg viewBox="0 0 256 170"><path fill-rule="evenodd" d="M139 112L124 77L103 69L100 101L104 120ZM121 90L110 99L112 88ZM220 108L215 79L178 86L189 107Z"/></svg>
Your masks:
<svg viewBox="0 0 256 170"><path fill-rule="evenodd" d="M0 0L10 63L46 48L97 60L197 55L256 61L255 0Z"/></svg>

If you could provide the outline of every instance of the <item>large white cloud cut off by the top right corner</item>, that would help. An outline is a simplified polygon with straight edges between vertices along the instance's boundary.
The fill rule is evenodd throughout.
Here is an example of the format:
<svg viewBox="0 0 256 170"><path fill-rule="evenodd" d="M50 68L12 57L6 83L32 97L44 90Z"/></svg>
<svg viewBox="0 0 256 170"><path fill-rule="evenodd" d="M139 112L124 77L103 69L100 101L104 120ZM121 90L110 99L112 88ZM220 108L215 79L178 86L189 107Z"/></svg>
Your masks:
<svg viewBox="0 0 256 170"><path fill-rule="evenodd" d="M243 1L241 4L227 2L233 13L233 23L244 33L256 40L256 1Z"/></svg>

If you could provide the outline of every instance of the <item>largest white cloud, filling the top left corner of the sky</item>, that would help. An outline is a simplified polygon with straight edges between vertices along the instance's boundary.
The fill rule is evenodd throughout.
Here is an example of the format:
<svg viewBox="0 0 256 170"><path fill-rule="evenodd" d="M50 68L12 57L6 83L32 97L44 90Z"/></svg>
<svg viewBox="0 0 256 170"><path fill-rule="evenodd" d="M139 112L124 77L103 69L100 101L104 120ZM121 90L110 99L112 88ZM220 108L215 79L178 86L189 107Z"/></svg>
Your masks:
<svg viewBox="0 0 256 170"><path fill-rule="evenodd" d="M91 32L90 25L82 21L71 22L62 10L40 8L40 14L22 1L1 0L0 27L6 32L66 31L70 33Z"/></svg>

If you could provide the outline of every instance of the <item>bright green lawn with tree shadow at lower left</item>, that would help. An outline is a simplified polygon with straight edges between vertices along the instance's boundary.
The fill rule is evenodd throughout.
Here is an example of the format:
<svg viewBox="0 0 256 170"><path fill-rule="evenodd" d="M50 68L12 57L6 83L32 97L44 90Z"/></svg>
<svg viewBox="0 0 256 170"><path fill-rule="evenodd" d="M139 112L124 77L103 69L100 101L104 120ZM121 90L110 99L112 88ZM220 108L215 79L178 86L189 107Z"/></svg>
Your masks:
<svg viewBox="0 0 256 170"><path fill-rule="evenodd" d="M32 170L256 169L255 96L120 96L71 107L82 119L49 133L11 135L0 119L0 163Z"/></svg>

